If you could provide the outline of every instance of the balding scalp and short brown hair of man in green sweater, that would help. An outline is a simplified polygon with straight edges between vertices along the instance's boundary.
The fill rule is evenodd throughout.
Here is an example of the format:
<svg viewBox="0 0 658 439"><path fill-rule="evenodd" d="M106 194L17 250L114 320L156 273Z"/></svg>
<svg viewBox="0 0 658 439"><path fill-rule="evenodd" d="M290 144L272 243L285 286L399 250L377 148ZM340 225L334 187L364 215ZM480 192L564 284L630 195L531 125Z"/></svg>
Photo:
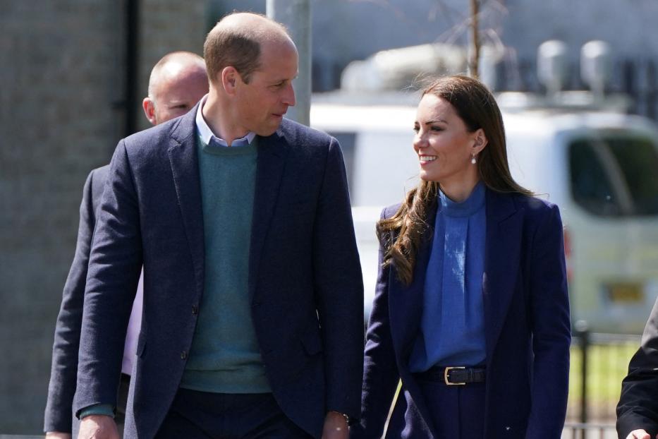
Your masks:
<svg viewBox="0 0 658 439"><path fill-rule="evenodd" d="M260 67L262 45L269 43L294 47L286 28L266 16L250 12L225 16L208 32L203 44L210 82L217 83L221 71L232 66L249 83L251 74Z"/></svg>

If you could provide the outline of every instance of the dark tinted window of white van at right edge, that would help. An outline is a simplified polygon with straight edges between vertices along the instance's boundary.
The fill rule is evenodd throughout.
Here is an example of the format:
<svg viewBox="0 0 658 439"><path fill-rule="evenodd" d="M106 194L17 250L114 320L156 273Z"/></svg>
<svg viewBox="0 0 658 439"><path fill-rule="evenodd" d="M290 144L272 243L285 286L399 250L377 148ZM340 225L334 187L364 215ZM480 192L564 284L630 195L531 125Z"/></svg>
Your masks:
<svg viewBox="0 0 658 439"><path fill-rule="evenodd" d="M569 145L571 193L603 217L658 215L658 154L648 138L608 134Z"/></svg>

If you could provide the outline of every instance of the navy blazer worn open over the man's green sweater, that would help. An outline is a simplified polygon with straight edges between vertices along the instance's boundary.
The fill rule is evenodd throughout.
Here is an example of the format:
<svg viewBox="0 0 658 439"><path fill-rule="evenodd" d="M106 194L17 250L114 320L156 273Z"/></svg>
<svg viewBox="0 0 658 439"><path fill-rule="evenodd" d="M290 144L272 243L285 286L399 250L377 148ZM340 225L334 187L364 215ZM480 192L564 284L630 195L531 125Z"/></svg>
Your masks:
<svg viewBox="0 0 658 439"><path fill-rule="evenodd" d="M198 105L198 104L197 104ZM152 438L178 390L204 284L197 107L119 142L87 275L77 411L116 401L144 266L126 438ZM359 414L363 291L336 139L284 119L258 139L248 294L286 416L319 438L326 411Z"/></svg>

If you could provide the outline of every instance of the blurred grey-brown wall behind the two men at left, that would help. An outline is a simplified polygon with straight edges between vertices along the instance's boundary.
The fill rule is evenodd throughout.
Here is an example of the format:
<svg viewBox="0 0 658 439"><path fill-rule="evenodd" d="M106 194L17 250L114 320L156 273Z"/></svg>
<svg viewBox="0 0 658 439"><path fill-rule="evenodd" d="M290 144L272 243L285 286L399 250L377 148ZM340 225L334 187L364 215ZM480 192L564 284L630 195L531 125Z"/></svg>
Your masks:
<svg viewBox="0 0 658 439"><path fill-rule="evenodd" d="M0 0L0 434L42 430L83 184L123 136L126 1ZM200 53L204 14L140 2L140 97L164 53Z"/></svg>

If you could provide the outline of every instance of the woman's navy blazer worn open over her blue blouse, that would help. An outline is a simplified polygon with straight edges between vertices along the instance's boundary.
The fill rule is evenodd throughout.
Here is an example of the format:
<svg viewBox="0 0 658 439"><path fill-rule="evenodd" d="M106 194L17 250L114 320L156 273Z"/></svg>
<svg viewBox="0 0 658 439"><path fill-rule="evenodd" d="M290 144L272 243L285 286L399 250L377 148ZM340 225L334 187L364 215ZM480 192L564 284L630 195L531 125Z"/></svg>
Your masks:
<svg viewBox="0 0 658 439"><path fill-rule="evenodd" d="M487 377L485 438L559 438L568 394L569 320L562 223L555 205L487 189L487 237L482 295ZM399 205L384 209L391 217ZM427 220L433 227L436 210ZM425 234L430 236L431 234ZM432 240L418 252L413 282L399 282L394 265L379 270L365 348L362 420L353 438L379 438L398 378L393 438L403 424L413 438L438 438L409 357L422 316ZM383 249L380 246L381 267ZM451 365L446 365L451 366ZM452 365L463 366L463 365Z"/></svg>

